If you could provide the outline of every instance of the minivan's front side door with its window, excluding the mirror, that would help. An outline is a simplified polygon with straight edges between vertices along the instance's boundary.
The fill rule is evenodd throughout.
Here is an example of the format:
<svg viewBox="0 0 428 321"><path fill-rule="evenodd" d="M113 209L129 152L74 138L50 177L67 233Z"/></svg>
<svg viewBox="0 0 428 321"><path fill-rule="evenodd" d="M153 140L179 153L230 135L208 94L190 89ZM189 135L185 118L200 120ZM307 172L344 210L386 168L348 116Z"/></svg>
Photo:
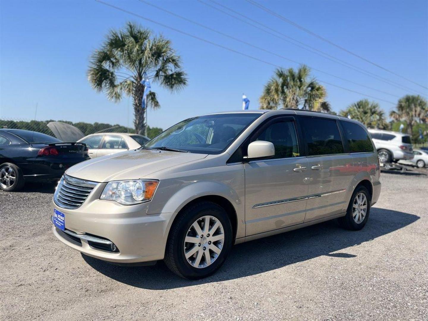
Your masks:
<svg viewBox="0 0 428 321"><path fill-rule="evenodd" d="M255 140L273 143L275 156L244 164L246 236L303 223L309 190L294 117L276 117L254 133Z"/></svg>

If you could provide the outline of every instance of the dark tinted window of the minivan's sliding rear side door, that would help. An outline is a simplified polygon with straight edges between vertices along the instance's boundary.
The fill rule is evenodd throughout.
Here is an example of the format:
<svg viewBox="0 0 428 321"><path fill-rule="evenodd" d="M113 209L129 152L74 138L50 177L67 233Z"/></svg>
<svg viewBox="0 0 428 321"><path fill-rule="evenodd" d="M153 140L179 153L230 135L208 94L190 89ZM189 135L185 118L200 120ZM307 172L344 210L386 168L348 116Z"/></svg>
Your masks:
<svg viewBox="0 0 428 321"><path fill-rule="evenodd" d="M344 152L336 120L302 117L301 126L308 144L308 156Z"/></svg>

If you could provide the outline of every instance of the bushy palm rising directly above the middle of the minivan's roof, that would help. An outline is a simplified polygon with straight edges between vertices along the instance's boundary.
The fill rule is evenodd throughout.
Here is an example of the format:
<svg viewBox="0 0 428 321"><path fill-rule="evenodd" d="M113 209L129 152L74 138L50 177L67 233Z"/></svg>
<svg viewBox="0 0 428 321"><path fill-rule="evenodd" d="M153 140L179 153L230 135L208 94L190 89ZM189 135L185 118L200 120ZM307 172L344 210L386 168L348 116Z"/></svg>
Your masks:
<svg viewBox="0 0 428 321"><path fill-rule="evenodd" d="M315 78L310 77L310 68L301 65L293 68L277 68L259 98L262 109L299 108L329 112L330 104L324 101L327 92Z"/></svg>

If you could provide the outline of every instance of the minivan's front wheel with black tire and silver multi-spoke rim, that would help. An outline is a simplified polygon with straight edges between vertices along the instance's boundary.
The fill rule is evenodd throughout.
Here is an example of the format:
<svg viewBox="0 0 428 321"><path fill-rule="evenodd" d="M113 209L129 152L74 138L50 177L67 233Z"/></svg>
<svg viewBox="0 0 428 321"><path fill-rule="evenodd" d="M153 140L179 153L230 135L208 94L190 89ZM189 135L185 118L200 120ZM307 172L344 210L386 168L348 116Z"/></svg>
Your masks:
<svg viewBox="0 0 428 321"><path fill-rule="evenodd" d="M232 247L232 225L224 208L199 202L175 220L165 250L165 263L178 276L201 279L216 272Z"/></svg>

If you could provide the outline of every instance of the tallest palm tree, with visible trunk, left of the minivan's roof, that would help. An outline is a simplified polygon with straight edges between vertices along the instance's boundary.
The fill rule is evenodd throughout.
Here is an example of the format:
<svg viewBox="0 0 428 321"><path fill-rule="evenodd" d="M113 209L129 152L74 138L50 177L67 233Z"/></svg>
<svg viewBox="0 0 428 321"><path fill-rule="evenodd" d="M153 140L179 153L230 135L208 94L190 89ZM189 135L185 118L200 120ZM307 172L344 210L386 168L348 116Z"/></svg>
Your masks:
<svg viewBox="0 0 428 321"><path fill-rule="evenodd" d="M172 92L187 85L181 58L172 49L171 42L131 22L122 30L111 30L90 58L88 79L93 89L105 92L107 98L115 102L119 102L123 94L132 97L138 134L146 126L142 108L145 87L141 83L145 73L153 83ZM155 92L147 95L147 105L160 108Z"/></svg>

